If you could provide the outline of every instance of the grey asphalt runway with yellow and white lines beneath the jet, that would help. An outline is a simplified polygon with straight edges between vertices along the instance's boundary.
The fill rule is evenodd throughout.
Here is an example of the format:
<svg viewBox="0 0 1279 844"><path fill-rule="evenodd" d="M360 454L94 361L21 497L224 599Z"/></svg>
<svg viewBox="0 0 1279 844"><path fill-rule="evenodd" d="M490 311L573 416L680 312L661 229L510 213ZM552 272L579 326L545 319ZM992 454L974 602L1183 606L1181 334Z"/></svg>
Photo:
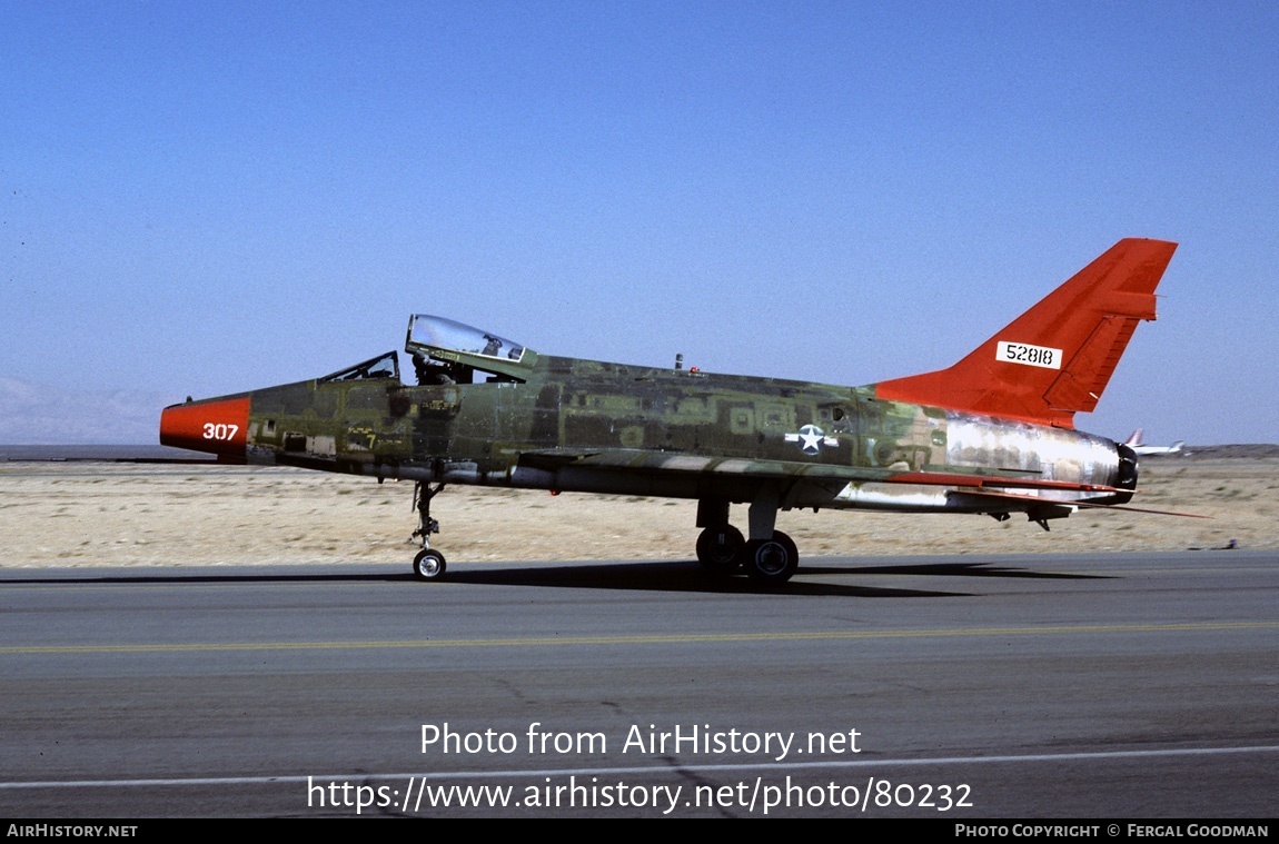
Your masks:
<svg viewBox="0 0 1279 844"><path fill-rule="evenodd" d="M1274 815L1275 552L449 574L0 570L0 815Z"/></svg>

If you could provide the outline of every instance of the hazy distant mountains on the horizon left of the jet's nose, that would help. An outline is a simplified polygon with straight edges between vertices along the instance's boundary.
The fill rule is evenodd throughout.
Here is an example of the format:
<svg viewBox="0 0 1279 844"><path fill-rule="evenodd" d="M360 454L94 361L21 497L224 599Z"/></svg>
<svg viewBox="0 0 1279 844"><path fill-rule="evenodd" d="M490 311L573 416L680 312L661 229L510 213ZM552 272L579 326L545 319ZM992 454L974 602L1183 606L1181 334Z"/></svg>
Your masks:
<svg viewBox="0 0 1279 844"><path fill-rule="evenodd" d="M155 444L160 410L180 400L141 390L79 393L0 376L0 442Z"/></svg>

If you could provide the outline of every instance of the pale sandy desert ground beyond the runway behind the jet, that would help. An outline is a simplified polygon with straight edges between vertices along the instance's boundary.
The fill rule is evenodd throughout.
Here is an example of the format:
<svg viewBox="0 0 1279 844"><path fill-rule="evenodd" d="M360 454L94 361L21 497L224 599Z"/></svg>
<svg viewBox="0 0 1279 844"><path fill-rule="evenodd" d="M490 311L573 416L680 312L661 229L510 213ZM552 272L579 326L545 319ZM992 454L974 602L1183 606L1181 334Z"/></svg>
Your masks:
<svg viewBox="0 0 1279 844"><path fill-rule="evenodd" d="M781 513L803 556L1279 549L1279 449L1145 458L1133 506L1081 510L1044 532L1014 515ZM412 483L299 469L0 463L0 565L409 564ZM696 504L449 487L432 514L450 563L692 559ZM746 522L746 508L733 518Z"/></svg>

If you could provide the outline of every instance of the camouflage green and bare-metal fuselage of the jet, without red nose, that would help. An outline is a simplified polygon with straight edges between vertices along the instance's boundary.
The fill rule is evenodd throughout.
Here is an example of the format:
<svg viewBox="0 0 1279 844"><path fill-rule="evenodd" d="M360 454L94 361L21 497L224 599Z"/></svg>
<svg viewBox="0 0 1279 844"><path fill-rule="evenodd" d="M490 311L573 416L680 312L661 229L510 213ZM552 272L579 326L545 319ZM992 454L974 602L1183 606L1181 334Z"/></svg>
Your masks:
<svg viewBox="0 0 1279 844"><path fill-rule="evenodd" d="M1114 490L1104 488L1122 480L1110 440L880 400L874 387L531 352L518 375L436 386L320 379L256 390L243 394L240 454L379 478L734 503L773 485L783 509L1028 510L1024 500L964 495L964 478L1037 482L1032 495L1045 505L1114 503Z"/></svg>

